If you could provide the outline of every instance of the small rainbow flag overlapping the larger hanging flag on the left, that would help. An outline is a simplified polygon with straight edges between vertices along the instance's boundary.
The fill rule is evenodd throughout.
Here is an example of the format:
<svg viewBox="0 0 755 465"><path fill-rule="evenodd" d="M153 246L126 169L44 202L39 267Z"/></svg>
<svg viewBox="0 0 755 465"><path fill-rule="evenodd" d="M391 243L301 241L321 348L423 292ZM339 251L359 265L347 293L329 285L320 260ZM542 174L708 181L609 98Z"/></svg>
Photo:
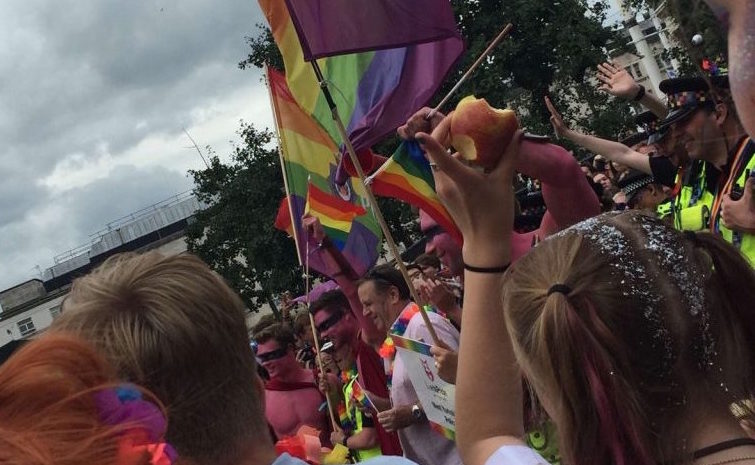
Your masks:
<svg viewBox="0 0 755 465"><path fill-rule="evenodd" d="M341 250L349 237L354 218L364 215L367 210L361 205L354 205L310 184L304 213L319 218L325 234Z"/></svg>

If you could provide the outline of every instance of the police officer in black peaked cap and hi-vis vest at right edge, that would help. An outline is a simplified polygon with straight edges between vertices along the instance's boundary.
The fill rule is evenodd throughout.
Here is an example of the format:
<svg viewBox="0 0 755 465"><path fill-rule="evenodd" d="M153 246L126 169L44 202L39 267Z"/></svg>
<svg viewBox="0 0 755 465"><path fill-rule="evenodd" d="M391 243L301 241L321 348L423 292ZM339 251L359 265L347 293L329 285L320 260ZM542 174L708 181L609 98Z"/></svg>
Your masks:
<svg viewBox="0 0 755 465"><path fill-rule="evenodd" d="M705 191L682 209L681 221L701 223L698 229L720 235L755 264L755 235L747 227L753 212L749 200L742 199L755 170L755 143L736 114L728 77L668 79L660 88L671 110L662 125L670 127L688 156L705 168L699 177Z"/></svg>

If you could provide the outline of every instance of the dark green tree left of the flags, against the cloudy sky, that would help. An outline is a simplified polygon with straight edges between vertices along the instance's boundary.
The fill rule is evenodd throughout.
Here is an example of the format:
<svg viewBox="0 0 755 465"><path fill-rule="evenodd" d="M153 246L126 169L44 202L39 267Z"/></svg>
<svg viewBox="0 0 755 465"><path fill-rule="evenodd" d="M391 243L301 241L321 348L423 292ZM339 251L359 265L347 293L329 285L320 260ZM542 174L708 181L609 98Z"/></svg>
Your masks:
<svg viewBox="0 0 755 465"><path fill-rule="evenodd" d="M278 152L267 130L241 122L228 163L212 154L209 167L190 171L194 195L207 205L186 236L189 251L223 276L249 309L274 296L301 293L303 281L293 241L273 227L283 182Z"/></svg>

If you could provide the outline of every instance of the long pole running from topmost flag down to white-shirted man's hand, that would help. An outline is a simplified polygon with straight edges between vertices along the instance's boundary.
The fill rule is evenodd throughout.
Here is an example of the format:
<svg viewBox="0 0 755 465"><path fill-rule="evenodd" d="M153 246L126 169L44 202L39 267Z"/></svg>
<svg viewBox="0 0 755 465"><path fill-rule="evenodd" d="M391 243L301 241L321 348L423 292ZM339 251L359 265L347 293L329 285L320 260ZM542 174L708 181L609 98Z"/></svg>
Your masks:
<svg viewBox="0 0 755 465"><path fill-rule="evenodd" d="M421 305L422 300L419 298L419 294L417 293L417 290L414 288L414 285L412 284L412 280L409 277L409 272L406 269L406 265L404 265L404 262L401 260L401 254L398 251L396 242L393 240L393 235L391 235L390 229L388 229L388 224L385 222L383 213L380 211L380 207L378 207L377 200L375 200L375 196L372 194L372 189L365 182L364 170L362 169L362 165L359 163L359 158L357 157L356 151L354 150L354 146L351 144L351 141L349 140L349 136L346 133L346 128L343 126L341 117L338 114L338 108L336 107L336 103L333 100L333 96L331 95L330 90L328 89L328 83L325 81L322 71L320 71L320 66L317 64L317 60L312 60L311 63L312 63L312 68L315 71L315 76L317 77L317 81L320 83L320 89L322 90L322 93L325 96L325 100L328 102L328 107L330 107L330 112L333 116L333 121L336 123L338 132L341 135L341 139L343 140L344 145L346 146L346 151L349 153L349 156L351 157L351 161L354 164L354 168L356 169L357 175L359 176L359 181L362 183L362 186L364 186L364 190L367 193L367 200L370 203L370 207L372 207L372 211L375 215L375 218L377 219L378 224L380 224L380 229L383 230L383 235L385 236L386 242L388 242L388 248L391 251L391 255L393 255L393 258L396 261L396 265L398 265L398 269L401 272L401 275L404 277L404 281L406 281L406 284L409 286L409 292L411 293L412 298L419 306L420 315L422 315L422 319L424 320L425 325L427 326L427 330L430 332L430 337L433 340L433 344L440 345L438 334L435 332L435 328L430 322L430 318L427 316L427 312L425 311L424 306Z"/></svg>

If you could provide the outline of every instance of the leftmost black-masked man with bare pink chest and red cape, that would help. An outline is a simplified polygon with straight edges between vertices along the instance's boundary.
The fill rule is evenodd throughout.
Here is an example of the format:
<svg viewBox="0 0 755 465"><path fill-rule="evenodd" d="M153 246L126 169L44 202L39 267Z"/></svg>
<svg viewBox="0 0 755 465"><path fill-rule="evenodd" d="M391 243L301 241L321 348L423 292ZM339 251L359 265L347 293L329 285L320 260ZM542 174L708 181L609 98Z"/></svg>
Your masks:
<svg viewBox="0 0 755 465"><path fill-rule="evenodd" d="M301 367L294 353L293 331L273 323L254 335L257 360L270 375L265 382L265 412L275 435L295 436L309 425L321 432L320 440L330 446L330 422L320 410L325 401L312 370Z"/></svg>

